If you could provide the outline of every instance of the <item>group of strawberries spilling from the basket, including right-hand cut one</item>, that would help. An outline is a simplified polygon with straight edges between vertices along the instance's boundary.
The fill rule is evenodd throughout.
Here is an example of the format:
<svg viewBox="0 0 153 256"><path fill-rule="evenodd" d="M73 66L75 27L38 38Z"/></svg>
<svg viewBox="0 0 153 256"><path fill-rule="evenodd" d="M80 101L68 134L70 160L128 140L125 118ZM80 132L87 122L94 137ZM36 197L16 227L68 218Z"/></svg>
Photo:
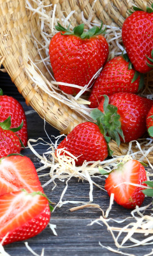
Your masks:
<svg viewBox="0 0 153 256"><path fill-rule="evenodd" d="M79 87L59 84L64 93L71 95L76 95L84 86L91 88L89 107L94 108L91 116L95 120L77 125L59 144L56 156L58 150L64 148L61 155L73 154L77 165L84 161L103 161L112 154L108 146L111 139L119 146L120 141L138 140L147 129L153 138L153 100L138 95L144 85L143 74L153 68L153 4L146 12L136 7L133 10L122 26L126 54L123 52L109 61L102 24L101 28L94 26L89 31L84 31L84 24L73 31L59 23L56 26L59 33L53 36L49 47L55 79L77 84ZM92 76L101 67L101 73L92 84ZM116 202L133 208L142 204L144 194L140 188L121 183L142 184L144 180L142 164L131 160L110 173L105 188L109 195L115 194Z"/></svg>

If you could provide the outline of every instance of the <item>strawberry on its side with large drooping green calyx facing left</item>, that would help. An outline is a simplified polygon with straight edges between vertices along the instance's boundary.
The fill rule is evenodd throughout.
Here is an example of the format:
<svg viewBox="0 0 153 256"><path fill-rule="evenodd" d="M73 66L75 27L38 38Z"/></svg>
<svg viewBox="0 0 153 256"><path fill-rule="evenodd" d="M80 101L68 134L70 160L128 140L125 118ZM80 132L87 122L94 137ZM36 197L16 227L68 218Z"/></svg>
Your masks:
<svg viewBox="0 0 153 256"><path fill-rule="evenodd" d="M99 116L105 134L108 132L118 145L120 140L129 142L142 137L147 130L146 116L153 100L133 93L114 93L104 97L105 100L101 101L98 109L92 111L91 116L94 119Z"/></svg>

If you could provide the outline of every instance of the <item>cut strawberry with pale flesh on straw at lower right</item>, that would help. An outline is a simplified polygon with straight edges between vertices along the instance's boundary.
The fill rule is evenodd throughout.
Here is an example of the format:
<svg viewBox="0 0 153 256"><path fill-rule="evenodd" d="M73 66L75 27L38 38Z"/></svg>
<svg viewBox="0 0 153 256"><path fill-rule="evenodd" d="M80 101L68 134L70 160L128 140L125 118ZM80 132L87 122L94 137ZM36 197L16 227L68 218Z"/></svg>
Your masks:
<svg viewBox="0 0 153 256"><path fill-rule="evenodd" d="M110 196L114 194L114 200L117 204L128 209L134 209L136 205L142 205L145 195L142 188L132 184L122 184L130 182L133 184L142 184L147 180L145 168L136 160L129 160L126 163L120 163L117 169L114 169L106 179L105 189ZM145 184L143 184L145 186Z"/></svg>

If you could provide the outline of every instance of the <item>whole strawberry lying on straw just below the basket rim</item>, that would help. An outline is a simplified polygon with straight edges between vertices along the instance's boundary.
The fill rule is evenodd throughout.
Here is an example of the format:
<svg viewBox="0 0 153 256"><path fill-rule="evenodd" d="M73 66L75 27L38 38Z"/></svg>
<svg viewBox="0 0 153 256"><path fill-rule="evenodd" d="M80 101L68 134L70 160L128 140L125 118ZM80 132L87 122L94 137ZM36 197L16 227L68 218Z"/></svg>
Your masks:
<svg viewBox="0 0 153 256"><path fill-rule="evenodd" d="M77 165L82 165L85 160L103 161L108 156L105 137L101 134L98 125L92 122L78 124L59 144L57 149L60 148L64 148L78 157ZM55 154L57 154L57 149ZM63 155L63 152L61 152L61 155Z"/></svg>

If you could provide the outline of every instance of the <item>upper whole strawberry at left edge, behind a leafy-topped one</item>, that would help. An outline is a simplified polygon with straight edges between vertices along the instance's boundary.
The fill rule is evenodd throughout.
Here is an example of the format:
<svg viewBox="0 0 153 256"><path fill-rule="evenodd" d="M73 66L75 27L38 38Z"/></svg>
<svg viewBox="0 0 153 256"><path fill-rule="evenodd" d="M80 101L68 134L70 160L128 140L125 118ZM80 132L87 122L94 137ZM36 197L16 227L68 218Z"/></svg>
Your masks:
<svg viewBox="0 0 153 256"><path fill-rule="evenodd" d="M3 95L3 91L0 90L0 122L3 122L11 116L11 128L18 127L22 120L24 125L20 131L17 131L17 135L24 146L27 146L27 120L22 105L18 100L8 95Z"/></svg>

